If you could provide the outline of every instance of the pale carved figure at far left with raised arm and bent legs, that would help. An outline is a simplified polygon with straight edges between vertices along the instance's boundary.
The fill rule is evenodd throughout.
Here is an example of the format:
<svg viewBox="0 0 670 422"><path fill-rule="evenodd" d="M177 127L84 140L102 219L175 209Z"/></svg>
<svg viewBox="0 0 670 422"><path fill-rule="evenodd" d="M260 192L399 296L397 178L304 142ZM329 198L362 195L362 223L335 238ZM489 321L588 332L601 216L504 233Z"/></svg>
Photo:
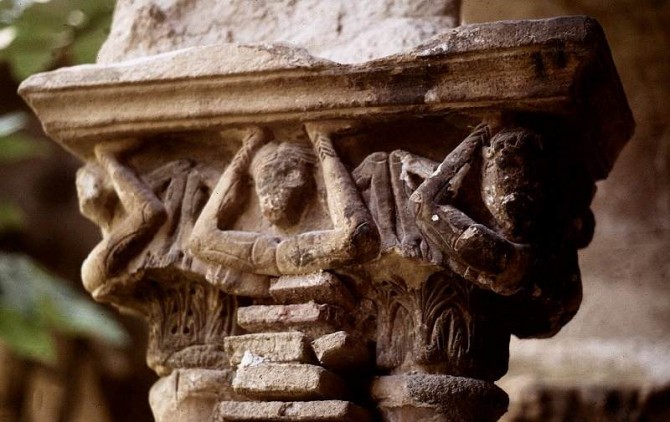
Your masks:
<svg viewBox="0 0 670 422"><path fill-rule="evenodd" d="M203 187L211 190L216 178L188 160L169 162L139 176L123 163L139 145L136 140L100 143L96 161L77 173L82 214L103 231L103 240L82 266L84 286L90 292L119 275L161 230L163 245L152 256L163 264L190 259L183 252L185 236L207 195Z"/></svg>

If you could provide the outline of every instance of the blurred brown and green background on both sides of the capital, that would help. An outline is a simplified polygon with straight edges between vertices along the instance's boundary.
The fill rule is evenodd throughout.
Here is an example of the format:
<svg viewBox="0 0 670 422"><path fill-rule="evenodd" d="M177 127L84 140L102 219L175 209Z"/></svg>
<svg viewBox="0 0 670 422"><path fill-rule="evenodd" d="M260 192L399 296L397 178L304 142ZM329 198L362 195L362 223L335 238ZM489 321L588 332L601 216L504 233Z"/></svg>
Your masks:
<svg viewBox="0 0 670 422"><path fill-rule="evenodd" d="M16 95L30 74L95 61L113 0L0 0L0 421L150 421L143 323L95 304L98 241L80 165ZM670 1L464 0L466 23L590 15L637 121L599 183L584 302L556 337L513 341L509 421L670 420Z"/></svg>

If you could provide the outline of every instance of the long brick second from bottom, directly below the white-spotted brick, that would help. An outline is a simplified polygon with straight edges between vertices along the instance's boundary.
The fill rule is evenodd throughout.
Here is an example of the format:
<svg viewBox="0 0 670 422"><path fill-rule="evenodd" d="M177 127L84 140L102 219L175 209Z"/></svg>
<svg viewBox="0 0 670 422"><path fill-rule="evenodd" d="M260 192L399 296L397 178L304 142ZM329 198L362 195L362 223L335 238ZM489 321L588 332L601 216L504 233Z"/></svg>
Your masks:
<svg viewBox="0 0 670 422"><path fill-rule="evenodd" d="M347 395L335 374L307 364L260 363L240 366L233 379L236 393L270 400L337 399Z"/></svg>

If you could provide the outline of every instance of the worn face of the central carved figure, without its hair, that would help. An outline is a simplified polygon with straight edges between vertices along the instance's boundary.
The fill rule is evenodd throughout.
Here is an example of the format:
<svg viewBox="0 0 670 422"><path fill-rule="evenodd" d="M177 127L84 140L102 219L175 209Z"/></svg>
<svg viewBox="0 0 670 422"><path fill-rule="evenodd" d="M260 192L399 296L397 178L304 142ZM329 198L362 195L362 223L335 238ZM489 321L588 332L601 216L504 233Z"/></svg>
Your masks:
<svg viewBox="0 0 670 422"><path fill-rule="evenodd" d="M309 166L290 153L278 150L275 154L255 168L254 182L263 216L272 224L287 228L300 221L311 175Z"/></svg>

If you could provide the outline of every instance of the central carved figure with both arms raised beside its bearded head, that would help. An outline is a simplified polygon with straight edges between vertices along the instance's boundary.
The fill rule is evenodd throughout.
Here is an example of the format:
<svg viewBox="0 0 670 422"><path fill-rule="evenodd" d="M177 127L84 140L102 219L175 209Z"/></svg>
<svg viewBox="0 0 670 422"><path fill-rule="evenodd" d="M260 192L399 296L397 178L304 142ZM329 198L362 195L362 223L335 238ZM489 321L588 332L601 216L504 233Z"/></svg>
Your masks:
<svg viewBox="0 0 670 422"><path fill-rule="evenodd" d="M314 154L253 129L195 225L190 240L195 255L240 271L278 276L330 269L377 254L373 221L332 145L331 136L341 128L305 127L321 165L333 227L291 235L230 229L246 202L249 181L263 217L284 231L299 226L306 198L315 194Z"/></svg>

